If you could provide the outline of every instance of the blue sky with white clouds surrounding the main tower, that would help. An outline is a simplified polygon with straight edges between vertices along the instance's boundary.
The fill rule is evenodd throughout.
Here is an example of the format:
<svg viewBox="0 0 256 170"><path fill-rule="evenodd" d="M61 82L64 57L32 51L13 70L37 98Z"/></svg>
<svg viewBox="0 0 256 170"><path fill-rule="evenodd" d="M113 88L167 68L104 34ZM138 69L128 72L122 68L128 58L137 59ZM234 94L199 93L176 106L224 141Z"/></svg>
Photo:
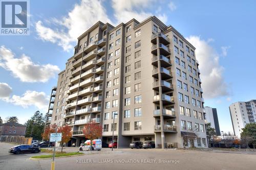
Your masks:
<svg viewBox="0 0 256 170"><path fill-rule="evenodd" d="M221 131L232 132L228 106L255 99L255 1L30 1L30 35L0 36L0 116L25 123L47 112L58 72L77 37L98 20L117 26L157 16L196 48L204 106L217 108Z"/></svg>

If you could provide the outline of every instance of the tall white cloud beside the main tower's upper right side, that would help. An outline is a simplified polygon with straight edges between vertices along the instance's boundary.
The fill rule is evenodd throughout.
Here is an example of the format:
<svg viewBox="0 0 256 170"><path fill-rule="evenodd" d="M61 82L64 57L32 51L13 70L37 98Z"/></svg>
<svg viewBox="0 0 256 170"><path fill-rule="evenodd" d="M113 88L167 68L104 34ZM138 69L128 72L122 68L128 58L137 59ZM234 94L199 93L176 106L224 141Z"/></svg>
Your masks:
<svg viewBox="0 0 256 170"><path fill-rule="evenodd" d="M223 78L224 67L219 64L219 54L208 41L199 36L190 36L186 39L196 47L196 58L199 61L204 91L203 97L212 99L228 95L228 86Z"/></svg>

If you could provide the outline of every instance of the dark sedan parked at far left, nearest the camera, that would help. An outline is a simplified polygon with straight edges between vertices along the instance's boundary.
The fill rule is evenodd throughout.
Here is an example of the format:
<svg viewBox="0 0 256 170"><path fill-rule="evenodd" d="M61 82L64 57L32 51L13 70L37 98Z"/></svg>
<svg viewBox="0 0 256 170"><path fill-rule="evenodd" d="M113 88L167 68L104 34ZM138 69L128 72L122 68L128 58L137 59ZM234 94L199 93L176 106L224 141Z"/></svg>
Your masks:
<svg viewBox="0 0 256 170"><path fill-rule="evenodd" d="M28 144L20 144L15 147L11 147L8 151L13 154L21 154L21 153L38 153L41 152L40 148L32 147Z"/></svg>

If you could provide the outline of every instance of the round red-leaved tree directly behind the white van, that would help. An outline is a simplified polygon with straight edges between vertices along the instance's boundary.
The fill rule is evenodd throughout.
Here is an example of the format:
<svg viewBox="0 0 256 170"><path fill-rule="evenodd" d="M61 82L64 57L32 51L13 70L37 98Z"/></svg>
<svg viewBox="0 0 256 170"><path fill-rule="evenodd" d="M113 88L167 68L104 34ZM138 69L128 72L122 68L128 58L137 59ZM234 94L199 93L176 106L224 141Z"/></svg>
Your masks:
<svg viewBox="0 0 256 170"><path fill-rule="evenodd" d="M102 136L102 127L94 122L84 125L82 129L83 135L91 140L90 142L90 151L92 151L92 141L93 139L99 138Z"/></svg>

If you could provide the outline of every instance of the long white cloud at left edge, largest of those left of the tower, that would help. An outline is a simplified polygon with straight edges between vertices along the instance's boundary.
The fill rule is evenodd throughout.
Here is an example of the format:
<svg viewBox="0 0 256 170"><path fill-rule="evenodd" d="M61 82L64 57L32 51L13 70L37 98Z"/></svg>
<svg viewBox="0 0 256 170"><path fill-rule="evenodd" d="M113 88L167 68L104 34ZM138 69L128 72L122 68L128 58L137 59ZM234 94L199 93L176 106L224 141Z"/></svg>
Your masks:
<svg viewBox="0 0 256 170"><path fill-rule="evenodd" d="M15 58L12 51L3 45L0 46L0 66L11 71L12 75L22 82L47 82L60 71L56 65L35 64L25 54Z"/></svg>

